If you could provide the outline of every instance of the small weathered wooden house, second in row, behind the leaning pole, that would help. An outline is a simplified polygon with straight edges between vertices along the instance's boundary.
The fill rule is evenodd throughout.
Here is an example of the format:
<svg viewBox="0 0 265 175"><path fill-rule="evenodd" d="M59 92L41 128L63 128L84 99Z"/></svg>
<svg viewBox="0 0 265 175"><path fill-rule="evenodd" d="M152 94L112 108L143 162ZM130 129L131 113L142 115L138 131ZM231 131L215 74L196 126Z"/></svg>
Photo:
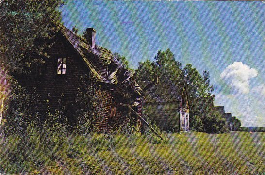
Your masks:
<svg viewBox="0 0 265 175"><path fill-rule="evenodd" d="M189 95L185 80L142 81L143 113L166 131L189 131Z"/></svg>

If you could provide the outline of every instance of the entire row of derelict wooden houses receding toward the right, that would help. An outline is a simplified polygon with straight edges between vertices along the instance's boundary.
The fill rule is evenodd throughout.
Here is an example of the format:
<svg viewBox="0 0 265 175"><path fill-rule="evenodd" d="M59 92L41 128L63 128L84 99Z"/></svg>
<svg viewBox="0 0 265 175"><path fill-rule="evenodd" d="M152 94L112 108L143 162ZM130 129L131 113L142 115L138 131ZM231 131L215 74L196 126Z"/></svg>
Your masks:
<svg viewBox="0 0 265 175"><path fill-rule="evenodd" d="M30 75L17 76L19 83L29 91L36 88L43 99L48 98L51 109L58 108L62 94L66 104L71 103L81 85L80 77L90 73L95 77L100 98L100 104L96 106L100 108L96 127L99 132L108 132L128 123L142 127L146 124L143 114L163 130L189 131L191 104L209 105L226 119L230 130L239 130L240 120L225 113L223 106L214 106L213 98L190 99L184 79L136 82L111 51L95 44L93 28L86 29L85 37L63 25L58 25L58 29L45 64L36 64ZM0 100L0 121L4 118L3 98Z"/></svg>

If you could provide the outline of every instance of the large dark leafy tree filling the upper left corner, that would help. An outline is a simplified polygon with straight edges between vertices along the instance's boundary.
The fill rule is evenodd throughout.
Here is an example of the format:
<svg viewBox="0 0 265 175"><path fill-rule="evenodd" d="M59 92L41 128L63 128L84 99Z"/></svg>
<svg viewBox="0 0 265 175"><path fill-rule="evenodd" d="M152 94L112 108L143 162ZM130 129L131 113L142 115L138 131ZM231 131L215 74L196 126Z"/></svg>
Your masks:
<svg viewBox="0 0 265 175"><path fill-rule="evenodd" d="M6 0L0 4L0 55L11 73L29 73L47 57L51 39L61 23L64 0Z"/></svg>

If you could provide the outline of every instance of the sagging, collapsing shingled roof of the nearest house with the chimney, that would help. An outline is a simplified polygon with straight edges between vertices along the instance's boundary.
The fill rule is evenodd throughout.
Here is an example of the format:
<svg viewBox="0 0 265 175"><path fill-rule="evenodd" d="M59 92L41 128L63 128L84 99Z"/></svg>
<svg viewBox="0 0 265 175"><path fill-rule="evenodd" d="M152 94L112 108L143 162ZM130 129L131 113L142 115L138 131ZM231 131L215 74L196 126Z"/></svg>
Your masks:
<svg viewBox="0 0 265 175"><path fill-rule="evenodd" d="M92 48L86 39L73 33L71 30L67 29L63 25L58 25L59 31L62 32L64 37L69 41L77 53L81 56L84 64L89 68L89 70L96 76L98 81L114 84L122 89L131 88L133 93L140 95L140 91L135 88L132 84L132 73L125 69L122 64L113 56L112 52L106 48L100 46L95 46ZM98 67L93 64L93 58L89 57L89 54L94 54L101 60L104 60L106 64L109 65L108 76L103 77L99 73ZM133 81L135 82L135 81Z"/></svg>

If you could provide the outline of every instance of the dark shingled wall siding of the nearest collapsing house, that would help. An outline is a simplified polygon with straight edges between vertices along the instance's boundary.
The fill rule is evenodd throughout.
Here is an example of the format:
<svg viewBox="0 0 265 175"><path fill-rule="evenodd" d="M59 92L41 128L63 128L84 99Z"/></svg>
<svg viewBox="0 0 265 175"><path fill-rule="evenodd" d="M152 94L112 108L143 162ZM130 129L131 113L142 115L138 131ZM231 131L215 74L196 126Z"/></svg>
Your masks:
<svg viewBox="0 0 265 175"><path fill-rule="evenodd" d="M70 45L70 43L60 34L56 37L55 44L49 51L50 57L45 60L44 71L41 76L28 75L18 76L19 82L27 89L33 89L37 87L37 92L42 95L43 99L47 99L47 95L50 97L49 103L51 110L58 108L58 99L64 94L64 100L74 100L77 88L80 87L80 77L88 74L89 69L85 66L80 55ZM108 67L104 64L105 61L100 60L98 56L90 55L94 59L94 63L98 67L97 69L104 77L107 77ZM58 58L66 58L66 74L57 75L57 60ZM110 87L112 86L112 87ZM109 118L111 112L111 105L114 100L118 99L114 93L114 85L106 83L100 84L98 87L100 104L96 106L98 121L96 131L109 132L112 129L124 126L126 123L136 119L135 116L131 116L131 112L126 107L117 106L116 115L112 119ZM116 101L118 104L120 101ZM45 109L40 109L44 111ZM136 110L137 111L137 110ZM139 110L140 112L141 110Z"/></svg>

